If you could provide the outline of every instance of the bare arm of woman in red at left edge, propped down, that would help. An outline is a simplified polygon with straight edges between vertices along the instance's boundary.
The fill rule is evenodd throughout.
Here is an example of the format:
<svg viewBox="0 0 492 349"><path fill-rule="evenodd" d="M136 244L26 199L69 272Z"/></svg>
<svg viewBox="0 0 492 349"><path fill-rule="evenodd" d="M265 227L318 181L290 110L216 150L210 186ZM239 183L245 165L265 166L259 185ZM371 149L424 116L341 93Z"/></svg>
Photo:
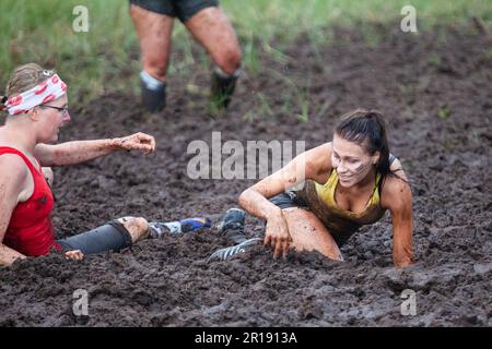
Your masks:
<svg viewBox="0 0 492 349"><path fill-rule="evenodd" d="M15 260L25 257L4 245L3 238L23 191L26 176L27 170L22 159L12 155L0 156L0 265L11 265Z"/></svg>

